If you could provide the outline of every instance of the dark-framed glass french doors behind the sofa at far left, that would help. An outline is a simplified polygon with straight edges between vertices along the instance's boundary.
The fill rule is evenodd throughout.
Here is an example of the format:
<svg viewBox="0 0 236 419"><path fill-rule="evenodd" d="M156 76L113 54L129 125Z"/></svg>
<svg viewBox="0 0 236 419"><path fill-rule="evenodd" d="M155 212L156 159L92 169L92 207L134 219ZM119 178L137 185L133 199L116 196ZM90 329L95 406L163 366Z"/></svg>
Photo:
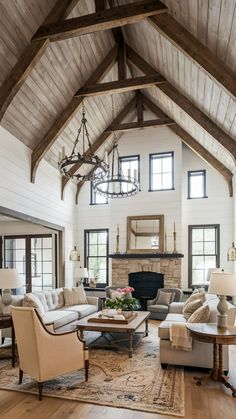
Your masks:
<svg viewBox="0 0 236 419"><path fill-rule="evenodd" d="M4 267L18 270L21 293L57 286L56 238L54 234L4 237Z"/></svg>

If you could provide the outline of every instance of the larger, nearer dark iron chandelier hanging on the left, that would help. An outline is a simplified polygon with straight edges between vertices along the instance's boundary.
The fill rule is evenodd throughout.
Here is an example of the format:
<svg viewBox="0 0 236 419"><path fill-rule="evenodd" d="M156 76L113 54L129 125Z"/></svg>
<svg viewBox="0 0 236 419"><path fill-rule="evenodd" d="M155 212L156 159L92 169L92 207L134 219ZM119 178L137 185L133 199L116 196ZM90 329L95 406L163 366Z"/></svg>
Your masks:
<svg viewBox="0 0 236 419"><path fill-rule="evenodd" d="M80 135L82 136L82 154L79 151L76 152L76 146L79 142ZM86 142L88 145L87 150L85 150ZM86 174L73 173L70 169L75 164L79 164L80 166L82 164L87 164L90 166L90 169ZM108 165L92 151L84 104L82 106L81 125L78 129L72 152L69 156L66 156L65 148L62 147L62 153L59 153L58 167L62 176L74 180L93 180L96 179L96 177L101 179L107 173Z"/></svg>

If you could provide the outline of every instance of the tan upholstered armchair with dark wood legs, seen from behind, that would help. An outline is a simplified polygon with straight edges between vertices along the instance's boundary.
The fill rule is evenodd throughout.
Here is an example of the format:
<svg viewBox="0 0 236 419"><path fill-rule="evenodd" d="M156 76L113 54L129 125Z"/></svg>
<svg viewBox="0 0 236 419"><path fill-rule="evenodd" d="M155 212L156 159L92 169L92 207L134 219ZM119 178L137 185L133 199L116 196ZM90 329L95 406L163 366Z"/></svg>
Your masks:
<svg viewBox="0 0 236 419"><path fill-rule="evenodd" d="M33 308L12 307L12 318L19 353L19 384L23 373L38 382L42 400L43 382L85 368L88 380L88 349L77 331L54 333L42 323Z"/></svg>

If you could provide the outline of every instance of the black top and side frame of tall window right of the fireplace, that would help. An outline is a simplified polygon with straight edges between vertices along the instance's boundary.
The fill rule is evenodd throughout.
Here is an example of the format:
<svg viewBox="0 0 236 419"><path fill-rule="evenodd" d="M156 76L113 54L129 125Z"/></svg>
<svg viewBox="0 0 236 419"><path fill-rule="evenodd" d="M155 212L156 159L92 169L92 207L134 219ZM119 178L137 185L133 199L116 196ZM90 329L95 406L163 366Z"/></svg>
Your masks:
<svg viewBox="0 0 236 419"><path fill-rule="evenodd" d="M220 224L190 224L188 226L188 287L192 288L192 232L193 229L216 228L216 268L220 267Z"/></svg>

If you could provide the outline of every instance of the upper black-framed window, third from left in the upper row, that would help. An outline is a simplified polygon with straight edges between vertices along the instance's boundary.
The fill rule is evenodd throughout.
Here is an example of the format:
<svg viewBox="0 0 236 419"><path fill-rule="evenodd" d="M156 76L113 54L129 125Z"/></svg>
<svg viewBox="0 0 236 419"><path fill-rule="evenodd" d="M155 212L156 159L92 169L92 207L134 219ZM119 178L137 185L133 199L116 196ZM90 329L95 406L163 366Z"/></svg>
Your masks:
<svg viewBox="0 0 236 419"><path fill-rule="evenodd" d="M149 191L174 189L174 153L149 154Z"/></svg>

